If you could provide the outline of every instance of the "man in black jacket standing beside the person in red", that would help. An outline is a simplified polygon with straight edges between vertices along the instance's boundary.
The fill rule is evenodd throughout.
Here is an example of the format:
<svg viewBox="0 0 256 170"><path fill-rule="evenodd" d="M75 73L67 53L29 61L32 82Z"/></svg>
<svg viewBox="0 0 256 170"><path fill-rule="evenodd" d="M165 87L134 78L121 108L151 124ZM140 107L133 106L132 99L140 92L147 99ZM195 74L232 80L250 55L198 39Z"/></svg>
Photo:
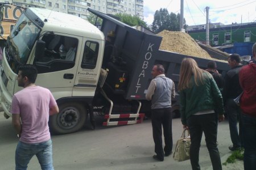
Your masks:
<svg viewBox="0 0 256 170"><path fill-rule="evenodd" d="M238 150L242 146L241 141L241 122L239 126L239 134L237 130L237 118L241 116L240 107L234 102L237 96L242 92L239 83L238 73L242 68L241 58L239 54L232 54L228 57L231 69L224 77L224 89L222 92L224 105L229 119L230 137L233 146L229 146L229 150Z"/></svg>

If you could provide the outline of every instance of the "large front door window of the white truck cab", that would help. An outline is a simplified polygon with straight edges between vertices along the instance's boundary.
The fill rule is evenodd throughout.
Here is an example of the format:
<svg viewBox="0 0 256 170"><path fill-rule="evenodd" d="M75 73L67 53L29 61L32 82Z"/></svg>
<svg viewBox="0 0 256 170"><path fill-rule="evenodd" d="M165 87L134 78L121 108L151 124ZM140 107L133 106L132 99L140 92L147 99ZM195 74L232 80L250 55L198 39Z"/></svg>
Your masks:
<svg viewBox="0 0 256 170"><path fill-rule="evenodd" d="M44 54L34 61L39 73L67 70L75 66L76 38L46 33L42 40L46 42Z"/></svg>

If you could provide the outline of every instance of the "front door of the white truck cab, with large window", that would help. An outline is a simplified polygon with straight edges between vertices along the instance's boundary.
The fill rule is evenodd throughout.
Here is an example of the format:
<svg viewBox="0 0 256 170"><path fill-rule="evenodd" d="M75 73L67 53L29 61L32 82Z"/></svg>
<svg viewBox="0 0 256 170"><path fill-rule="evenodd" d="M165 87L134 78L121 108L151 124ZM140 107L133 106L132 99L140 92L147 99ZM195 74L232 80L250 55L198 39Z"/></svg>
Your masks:
<svg viewBox="0 0 256 170"><path fill-rule="evenodd" d="M44 55L34 59L38 69L36 84L49 88L56 99L72 96L82 37L46 33Z"/></svg>

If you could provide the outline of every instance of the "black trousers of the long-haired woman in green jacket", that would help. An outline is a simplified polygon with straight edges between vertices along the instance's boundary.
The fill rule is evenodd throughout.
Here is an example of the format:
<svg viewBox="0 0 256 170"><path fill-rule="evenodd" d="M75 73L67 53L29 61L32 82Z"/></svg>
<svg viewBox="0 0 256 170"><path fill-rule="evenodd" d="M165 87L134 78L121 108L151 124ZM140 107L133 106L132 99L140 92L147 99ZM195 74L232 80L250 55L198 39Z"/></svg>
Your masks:
<svg viewBox="0 0 256 170"><path fill-rule="evenodd" d="M202 135L204 132L205 142L210 154L210 161L212 162L213 170L220 170L221 159L220 153L216 145L217 141L217 121L216 113L192 115L187 120L187 126L191 136L191 146L189 154L190 162L193 170L199 170L199 150Z"/></svg>

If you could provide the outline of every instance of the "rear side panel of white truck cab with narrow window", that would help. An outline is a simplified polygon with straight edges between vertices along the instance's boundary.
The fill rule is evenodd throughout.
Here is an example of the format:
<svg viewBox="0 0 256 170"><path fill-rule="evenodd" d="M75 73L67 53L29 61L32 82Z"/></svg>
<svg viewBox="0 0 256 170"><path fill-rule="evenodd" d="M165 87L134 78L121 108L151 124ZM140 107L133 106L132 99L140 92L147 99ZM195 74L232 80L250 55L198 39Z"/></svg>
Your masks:
<svg viewBox="0 0 256 170"><path fill-rule="evenodd" d="M94 96L102 63L102 43L84 37L72 96Z"/></svg>

